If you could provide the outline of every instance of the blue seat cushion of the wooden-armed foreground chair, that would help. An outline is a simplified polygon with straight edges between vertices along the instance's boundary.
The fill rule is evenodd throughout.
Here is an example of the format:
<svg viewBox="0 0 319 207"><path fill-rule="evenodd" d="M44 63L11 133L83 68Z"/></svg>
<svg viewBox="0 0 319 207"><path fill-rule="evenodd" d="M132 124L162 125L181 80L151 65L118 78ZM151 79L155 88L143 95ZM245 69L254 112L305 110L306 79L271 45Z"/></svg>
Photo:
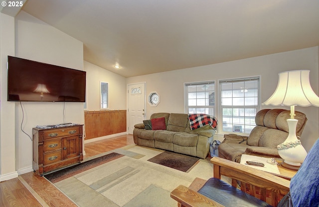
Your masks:
<svg viewBox="0 0 319 207"><path fill-rule="evenodd" d="M266 202L250 196L216 178L209 179L198 193L225 207L233 207L234 204L236 207L271 207Z"/></svg>

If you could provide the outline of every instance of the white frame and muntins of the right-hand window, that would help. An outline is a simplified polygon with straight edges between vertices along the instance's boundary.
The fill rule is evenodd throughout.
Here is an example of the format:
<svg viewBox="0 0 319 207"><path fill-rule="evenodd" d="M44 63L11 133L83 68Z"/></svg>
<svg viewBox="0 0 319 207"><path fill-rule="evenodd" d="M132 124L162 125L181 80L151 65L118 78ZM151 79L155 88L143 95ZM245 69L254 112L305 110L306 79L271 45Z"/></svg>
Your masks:
<svg viewBox="0 0 319 207"><path fill-rule="evenodd" d="M222 105L222 84L223 83L240 83L240 82L245 82L245 81L253 81L253 80L257 80L257 105ZM232 93L234 90L237 90L238 91L238 88L237 89L234 89L232 88ZM245 90L245 88L244 88ZM242 98L245 99L246 96L243 96ZM253 96L251 96L253 97ZM232 99L234 98L234 96L232 95ZM243 77L243 78L230 78L230 79L222 79L222 80L218 80L218 131L221 133L221 134L229 134L229 133L233 133L233 134L249 134L250 131L252 130L252 128L254 128L256 126L256 123L255 123L255 116L256 116L256 113L261 109L261 76L250 76L250 77ZM233 101L233 100L232 100ZM234 116L234 115L231 115L231 118L233 120L233 117L242 117L244 119L244 123L238 123L238 124L234 124L234 122L232 121L231 122L231 128L232 130L231 131L224 131L224 117L223 117L223 109L244 109L244 114L245 114L245 108L246 109L251 109L251 108L254 108L255 109L255 116L252 118L252 116ZM233 111L233 110L232 110ZM238 110L239 111L239 110ZM254 122L254 125L253 124L246 124L246 117L247 119L249 119L250 121L253 120ZM252 123L252 122L251 122ZM234 125L236 126L235 128L237 128L237 130L234 130ZM247 126L250 126L250 127L247 127L246 128L246 125ZM240 130L240 127L237 127L237 126L244 126L244 129Z"/></svg>

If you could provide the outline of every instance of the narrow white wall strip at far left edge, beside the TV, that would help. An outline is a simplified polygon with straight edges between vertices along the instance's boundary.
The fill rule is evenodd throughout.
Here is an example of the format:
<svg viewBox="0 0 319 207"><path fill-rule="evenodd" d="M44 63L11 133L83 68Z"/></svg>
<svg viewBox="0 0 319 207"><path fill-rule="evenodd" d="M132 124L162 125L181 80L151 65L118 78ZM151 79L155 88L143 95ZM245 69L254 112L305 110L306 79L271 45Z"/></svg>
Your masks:
<svg viewBox="0 0 319 207"><path fill-rule="evenodd" d="M6 101L7 55L14 55L14 18L0 13L0 182L17 177L14 104Z"/></svg>

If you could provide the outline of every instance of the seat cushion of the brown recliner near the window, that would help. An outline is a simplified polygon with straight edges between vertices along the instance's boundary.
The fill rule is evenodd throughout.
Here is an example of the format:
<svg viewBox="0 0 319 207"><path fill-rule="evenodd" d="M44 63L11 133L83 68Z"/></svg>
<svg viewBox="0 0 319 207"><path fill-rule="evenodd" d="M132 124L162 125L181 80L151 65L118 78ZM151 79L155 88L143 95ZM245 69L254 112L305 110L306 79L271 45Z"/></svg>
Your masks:
<svg viewBox="0 0 319 207"><path fill-rule="evenodd" d="M247 147L249 145L223 143L218 147L218 157L239 163L241 155L246 151Z"/></svg>

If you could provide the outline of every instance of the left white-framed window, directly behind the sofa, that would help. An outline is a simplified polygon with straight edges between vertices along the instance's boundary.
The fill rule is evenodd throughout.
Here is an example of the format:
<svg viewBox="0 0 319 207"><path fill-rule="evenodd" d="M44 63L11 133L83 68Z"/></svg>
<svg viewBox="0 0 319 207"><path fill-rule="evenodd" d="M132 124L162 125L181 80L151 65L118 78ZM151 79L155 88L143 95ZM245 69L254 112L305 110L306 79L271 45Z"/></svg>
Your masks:
<svg viewBox="0 0 319 207"><path fill-rule="evenodd" d="M215 83L186 83L186 112L188 114L209 114L215 112Z"/></svg>

